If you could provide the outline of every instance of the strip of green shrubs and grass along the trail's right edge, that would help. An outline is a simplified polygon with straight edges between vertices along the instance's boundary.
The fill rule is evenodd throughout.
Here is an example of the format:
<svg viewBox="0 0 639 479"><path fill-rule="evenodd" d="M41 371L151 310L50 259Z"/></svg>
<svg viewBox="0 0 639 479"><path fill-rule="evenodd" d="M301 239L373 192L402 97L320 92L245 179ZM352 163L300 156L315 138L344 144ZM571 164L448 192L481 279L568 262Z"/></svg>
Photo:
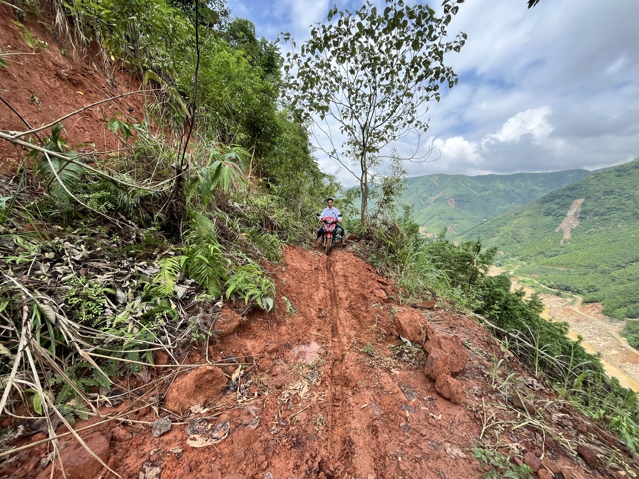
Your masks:
<svg viewBox="0 0 639 479"><path fill-rule="evenodd" d="M478 240L456 246L445 234L424 238L410 220L410 209L405 213L394 222L376 224L360 248L367 261L397 280L404 291L399 299L436 298L473 312L534 376L553 384L561 399L606 423L639 452L639 394L608 378L599 356L566 336L566 323L543 319L539 298L525 298L523 290L511 291L506 275L488 276L497 247L486 250ZM499 366L496 360L493 378ZM497 379L493 384L497 385ZM493 459L501 464L500 457ZM493 471L501 470L499 464L493 464L497 468Z"/></svg>

